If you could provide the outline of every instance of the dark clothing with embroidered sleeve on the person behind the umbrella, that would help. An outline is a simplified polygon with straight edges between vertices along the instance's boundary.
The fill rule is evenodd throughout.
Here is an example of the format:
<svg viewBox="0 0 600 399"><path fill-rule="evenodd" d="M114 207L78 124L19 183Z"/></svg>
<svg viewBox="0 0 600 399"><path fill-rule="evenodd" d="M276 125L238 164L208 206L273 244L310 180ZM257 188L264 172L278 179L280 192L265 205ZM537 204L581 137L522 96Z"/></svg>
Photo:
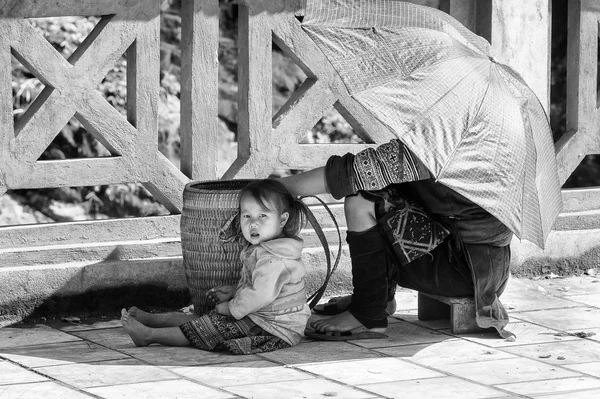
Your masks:
<svg viewBox="0 0 600 399"><path fill-rule="evenodd" d="M508 314L498 297L509 277L512 232L498 219L436 183L399 140L333 156L325 174L335 198L359 193L376 204L375 233L362 233L372 237L354 240L361 233L348 232L353 283L358 284L349 310L359 321L368 328L385 325L389 280L435 295L473 296L477 324L511 335L504 330ZM384 209L384 200L391 208ZM386 261L361 262L360 256L355 261L354 254L375 251L382 243Z"/></svg>

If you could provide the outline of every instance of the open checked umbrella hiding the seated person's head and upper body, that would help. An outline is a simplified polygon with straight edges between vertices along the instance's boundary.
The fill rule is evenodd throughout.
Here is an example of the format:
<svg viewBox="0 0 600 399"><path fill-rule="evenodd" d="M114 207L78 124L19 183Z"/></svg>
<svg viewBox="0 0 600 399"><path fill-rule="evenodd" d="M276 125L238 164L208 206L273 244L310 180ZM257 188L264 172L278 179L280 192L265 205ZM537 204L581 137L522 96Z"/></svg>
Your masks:
<svg viewBox="0 0 600 399"><path fill-rule="evenodd" d="M437 181L544 248L562 209L548 117L485 39L395 0L308 0L302 27Z"/></svg>

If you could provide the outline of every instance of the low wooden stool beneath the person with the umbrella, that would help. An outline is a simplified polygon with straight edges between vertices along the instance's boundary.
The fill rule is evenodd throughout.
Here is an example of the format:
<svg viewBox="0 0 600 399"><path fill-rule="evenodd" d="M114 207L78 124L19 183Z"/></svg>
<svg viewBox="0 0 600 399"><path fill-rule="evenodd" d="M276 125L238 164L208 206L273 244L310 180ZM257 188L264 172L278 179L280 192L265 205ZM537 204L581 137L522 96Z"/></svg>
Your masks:
<svg viewBox="0 0 600 399"><path fill-rule="evenodd" d="M418 306L419 320L449 318L452 334L474 334L486 331L475 322L473 297L450 298L419 292Z"/></svg>

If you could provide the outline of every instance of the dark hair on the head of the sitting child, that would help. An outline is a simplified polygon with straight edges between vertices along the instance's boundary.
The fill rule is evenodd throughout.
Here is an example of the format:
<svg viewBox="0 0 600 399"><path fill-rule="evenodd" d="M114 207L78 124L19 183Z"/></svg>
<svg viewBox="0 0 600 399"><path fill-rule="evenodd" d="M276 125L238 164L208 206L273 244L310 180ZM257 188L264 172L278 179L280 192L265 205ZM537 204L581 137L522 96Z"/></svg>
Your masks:
<svg viewBox="0 0 600 399"><path fill-rule="evenodd" d="M273 210L274 206L279 213L289 213L290 217L283 227L283 234L286 237L298 235L306 225L308 212L306 204L294 198L278 180L253 181L241 190L240 201L248 195L252 196L264 209Z"/></svg>

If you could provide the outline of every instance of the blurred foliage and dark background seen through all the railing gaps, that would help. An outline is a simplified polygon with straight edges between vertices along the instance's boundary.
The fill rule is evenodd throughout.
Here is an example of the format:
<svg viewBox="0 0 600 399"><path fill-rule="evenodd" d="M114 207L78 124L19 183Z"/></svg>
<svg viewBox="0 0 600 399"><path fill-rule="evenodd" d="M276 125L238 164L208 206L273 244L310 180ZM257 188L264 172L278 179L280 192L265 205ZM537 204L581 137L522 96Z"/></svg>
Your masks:
<svg viewBox="0 0 600 399"><path fill-rule="evenodd" d="M553 0L552 98L551 119L555 139L565 130L566 98L566 0ZM237 132L237 5L232 0L219 2L219 118L234 135ZM180 0L162 4L161 75L158 109L158 148L179 166L180 157ZM562 19L561 19L562 18ZM92 31L99 18L65 17L32 19L30 22L68 58ZM126 115L127 61L119 59L97 90L115 109ZM306 76L277 46L273 52L274 112L298 89ZM44 85L24 66L13 59L13 114L18 119L41 92ZM361 143L351 126L337 112L329 111L307 132L303 143ZM233 147L232 147L233 148ZM62 129L40 160L110 156L81 123L73 118ZM588 156L565 187L600 184L598 156ZM293 173L292 171L288 171ZM76 218L130 217L167 214L152 195L139 184L115 184L75 188L15 190L8 195L24 207L37 210L53 220ZM66 213L65 213L66 212ZM71 219L69 219L71 218Z"/></svg>

